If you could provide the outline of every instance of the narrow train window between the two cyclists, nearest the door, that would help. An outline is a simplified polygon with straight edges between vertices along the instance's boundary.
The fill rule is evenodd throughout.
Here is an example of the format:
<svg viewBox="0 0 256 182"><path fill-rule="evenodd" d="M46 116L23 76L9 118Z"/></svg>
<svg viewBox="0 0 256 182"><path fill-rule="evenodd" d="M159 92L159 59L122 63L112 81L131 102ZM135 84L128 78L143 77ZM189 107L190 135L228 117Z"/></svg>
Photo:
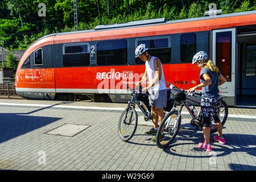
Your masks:
<svg viewBox="0 0 256 182"><path fill-rule="evenodd" d="M196 34L183 34L180 38L180 60L191 62L196 54Z"/></svg>

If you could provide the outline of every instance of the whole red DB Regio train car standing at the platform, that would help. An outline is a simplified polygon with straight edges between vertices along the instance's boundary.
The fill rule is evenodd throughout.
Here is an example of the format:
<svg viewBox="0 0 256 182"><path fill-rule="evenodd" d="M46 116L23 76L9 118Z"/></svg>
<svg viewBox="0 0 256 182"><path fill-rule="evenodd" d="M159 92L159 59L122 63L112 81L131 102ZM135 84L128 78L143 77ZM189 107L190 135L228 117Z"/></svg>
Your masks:
<svg viewBox="0 0 256 182"><path fill-rule="evenodd" d="M145 70L134 53L141 43L159 57L165 80L177 87L200 83L200 69L191 63L196 52L205 51L227 79L219 88L228 105L246 105L246 98L256 101L256 11L149 19L44 36L20 59L16 93L42 100L65 94L125 100L129 95L123 85L134 87Z"/></svg>

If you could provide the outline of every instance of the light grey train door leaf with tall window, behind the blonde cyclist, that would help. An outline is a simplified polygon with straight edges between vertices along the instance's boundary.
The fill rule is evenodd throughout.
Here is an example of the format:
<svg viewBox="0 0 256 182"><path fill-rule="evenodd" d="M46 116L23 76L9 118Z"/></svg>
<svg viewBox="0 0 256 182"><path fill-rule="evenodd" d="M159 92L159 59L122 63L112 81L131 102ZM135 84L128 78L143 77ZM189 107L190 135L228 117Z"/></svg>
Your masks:
<svg viewBox="0 0 256 182"><path fill-rule="evenodd" d="M212 61L227 82L219 86L228 105L236 101L236 28L212 31Z"/></svg>

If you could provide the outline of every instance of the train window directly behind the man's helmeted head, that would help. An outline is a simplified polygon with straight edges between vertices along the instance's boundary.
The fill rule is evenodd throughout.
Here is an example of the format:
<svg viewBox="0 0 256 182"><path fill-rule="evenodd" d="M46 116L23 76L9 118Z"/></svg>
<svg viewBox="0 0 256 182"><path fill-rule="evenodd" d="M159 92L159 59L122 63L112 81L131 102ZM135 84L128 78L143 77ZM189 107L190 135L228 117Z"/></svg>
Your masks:
<svg viewBox="0 0 256 182"><path fill-rule="evenodd" d="M171 61L171 41L168 38L146 38L137 40L137 46L145 44L148 47L150 55L158 57L162 63L170 63ZM135 59L137 64L144 64L144 61L137 57Z"/></svg>

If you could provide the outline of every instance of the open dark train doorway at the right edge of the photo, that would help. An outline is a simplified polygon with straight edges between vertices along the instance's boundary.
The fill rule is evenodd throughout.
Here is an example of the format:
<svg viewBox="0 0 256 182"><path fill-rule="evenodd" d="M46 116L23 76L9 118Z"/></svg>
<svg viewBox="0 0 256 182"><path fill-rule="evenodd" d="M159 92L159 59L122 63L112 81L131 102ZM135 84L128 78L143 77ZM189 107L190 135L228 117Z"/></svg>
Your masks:
<svg viewBox="0 0 256 182"><path fill-rule="evenodd" d="M256 34L237 35L237 105L256 106Z"/></svg>

